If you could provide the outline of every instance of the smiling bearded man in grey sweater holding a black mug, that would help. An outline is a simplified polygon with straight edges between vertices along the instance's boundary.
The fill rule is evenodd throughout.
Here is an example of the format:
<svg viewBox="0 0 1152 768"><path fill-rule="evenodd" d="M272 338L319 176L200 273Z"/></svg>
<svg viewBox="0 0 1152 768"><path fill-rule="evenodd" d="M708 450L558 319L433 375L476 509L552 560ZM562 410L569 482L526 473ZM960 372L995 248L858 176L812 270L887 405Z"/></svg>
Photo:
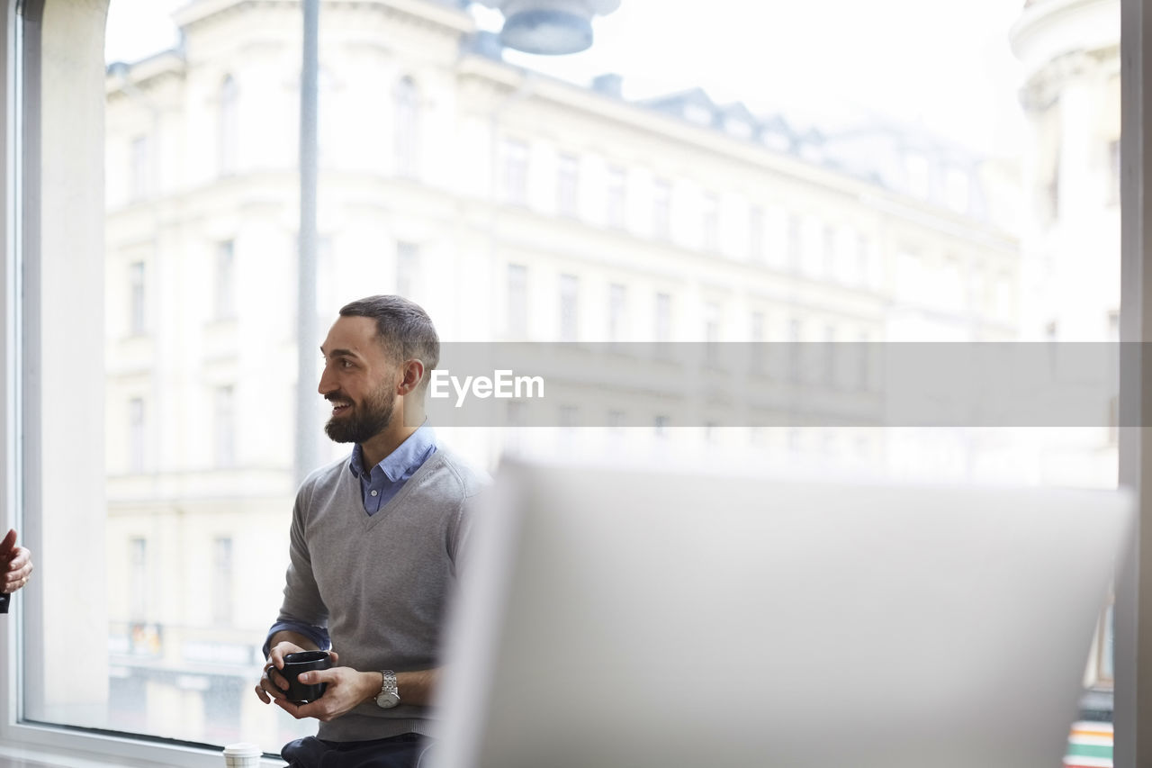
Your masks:
<svg viewBox="0 0 1152 768"><path fill-rule="evenodd" d="M285 600L256 693L320 721L317 738L285 746L294 767L415 766L457 554L484 479L423 423L440 341L420 307L400 296L354 301L320 352L319 392L332 404L325 431L355 445L296 495ZM300 678L326 683L324 695L289 702L285 656L328 648L333 668Z"/></svg>

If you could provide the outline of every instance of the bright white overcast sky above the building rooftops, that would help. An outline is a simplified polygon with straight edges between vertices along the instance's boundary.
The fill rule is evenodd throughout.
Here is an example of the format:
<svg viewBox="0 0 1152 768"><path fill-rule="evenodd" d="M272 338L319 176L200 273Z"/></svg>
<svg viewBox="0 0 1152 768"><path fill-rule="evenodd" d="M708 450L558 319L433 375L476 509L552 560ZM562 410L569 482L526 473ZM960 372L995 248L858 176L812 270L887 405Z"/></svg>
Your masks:
<svg viewBox="0 0 1152 768"><path fill-rule="evenodd" d="M106 58L174 45L169 14L187 1L112 0ZM1022 0L621 0L596 18L589 51L506 60L581 84L617 73L627 98L702 86L757 114L833 128L884 115L1011 155L1024 123L1008 36L1022 9ZM473 14L499 28L497 12ZM323 2L320 25L323 51Z"/></svg>

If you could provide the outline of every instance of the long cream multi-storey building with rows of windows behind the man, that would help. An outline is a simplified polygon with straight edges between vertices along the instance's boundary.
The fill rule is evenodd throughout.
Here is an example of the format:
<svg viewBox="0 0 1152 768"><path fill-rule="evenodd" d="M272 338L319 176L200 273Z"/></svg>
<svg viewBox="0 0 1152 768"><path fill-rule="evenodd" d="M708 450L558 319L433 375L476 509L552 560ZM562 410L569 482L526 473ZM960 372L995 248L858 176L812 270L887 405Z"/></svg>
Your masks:
<svg viewBox="0 0 1152 768"><path fill-rule="evenodd" d="M108 68L109 726L295 732L250 688L287 564L297 344L318 347L346 301L407 295L453 342L1018 336L1018 241L988 203L1002 190L957 148L824 135L699 90L629 101L614 76L581 86L505 63L455 3L325 0L321 17L310 276L298 3L196 0L176 14L179 48ZM297 338L300 279L317 292L312 339ZM821 385L874 394L867 375ZM446 437L490 466L509 442L859 466L958 452L964 467L979 449L945 436L925 454L866 420L778 428L718 406L684 421L692 397L669 384L597 414L561 401L558 429ZM566 429L613 422L643 427Z"/></svg>

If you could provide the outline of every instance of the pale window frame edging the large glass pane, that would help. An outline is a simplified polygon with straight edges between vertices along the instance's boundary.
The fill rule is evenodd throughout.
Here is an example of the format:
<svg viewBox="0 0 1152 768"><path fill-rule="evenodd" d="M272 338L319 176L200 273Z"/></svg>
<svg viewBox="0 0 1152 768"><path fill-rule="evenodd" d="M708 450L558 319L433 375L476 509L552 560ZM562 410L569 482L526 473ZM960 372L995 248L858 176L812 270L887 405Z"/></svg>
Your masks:
<svg viewBox="0 0 1152 768"><path fill-rule="evenodd" d="M22 441L38 445L36 374L25 367L23 355L35 351L40 329L18 296L39 294L39 160L41 148L39 52L44 33L45 3L59 0L8 0L0 20L0 119L2 153L0 172L0 242L3 265L0 274L0 483L5 522L18 526L23 539L36 549L40 542L40 521L36 482L40 468L20 451ZM106 5L106 3L105 3ZM20 10L17 13L17 7ZM1152 152L1147 151L1145 111L1152 98L1152 57L1146 32L1152 31L1152 9L1142 0L1121 0L1122 125L1123 144L1122 210L1122 317L1121 338L1126 341L1152 338ZM93 30L103 37L103 30ZM1145 296L1149 298L1145 301ZM1122 412L1129 420L1152 412L1152 390L1143 383L1152 379L1152 355L1134 351L1131 367L1121 378ZM30 407L25 407L30 406ZM1129 423L1142 423L1130 421ZM1152 431L1121 428L1120 481L1138 499L1139 525L1132 537L1127 564L1121 569L1116 594L1115 657L1115 766L1136 768L1152 760L1152 662L1139 664L1139 652L1152 658L1152 626L1140 624L1140 615L1152 617L1152 494L1140 495L1143 480L1152 479ZM30 510L24 514L24 510ZM1140 569L1140 565L1149 567ZM28 597L37 594L36 580ZM200 768L219 765L219 751L144 738L77 731L22 722L23 643L21 632L40 627L37 611L24 609L25 600L14 601L14 612L0 626L0 754L43 755L46 753L84 755L90 761L105 759L115 765L165 765ZM280 765L266 761L266 765Z"/></svg>

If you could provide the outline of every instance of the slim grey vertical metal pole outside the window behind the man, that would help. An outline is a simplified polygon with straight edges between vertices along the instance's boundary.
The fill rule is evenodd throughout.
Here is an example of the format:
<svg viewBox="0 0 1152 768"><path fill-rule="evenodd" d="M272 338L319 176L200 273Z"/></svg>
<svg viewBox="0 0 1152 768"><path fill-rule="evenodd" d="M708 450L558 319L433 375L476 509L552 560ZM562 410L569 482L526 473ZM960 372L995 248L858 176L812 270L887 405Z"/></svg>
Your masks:
<svg viewBox="0 0 1152 768"><path fill-rule="evenodd" d="M316 468L319 421L316 309L317 101L320 0L302 0L303 67L300 78L300 259L296 271L296 482Z"/></svg>

